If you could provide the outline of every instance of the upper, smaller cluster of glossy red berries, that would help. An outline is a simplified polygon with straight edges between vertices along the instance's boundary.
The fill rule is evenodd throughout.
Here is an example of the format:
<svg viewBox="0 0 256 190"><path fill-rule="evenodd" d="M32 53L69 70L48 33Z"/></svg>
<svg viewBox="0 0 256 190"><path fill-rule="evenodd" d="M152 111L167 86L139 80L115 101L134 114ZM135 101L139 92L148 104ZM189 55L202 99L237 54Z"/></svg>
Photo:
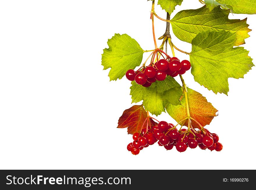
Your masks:
<svg viewBox="0 0 256 190"><path fill-rule="evenodd" d="M188 60L183 60L180 62L177 57L172 57L170 59L160 59L156 64L151 64L142 70L138 70L137 72L132 69L127 70L125 76L130 81L135 80L137 84L141 84L144 87L149 87L157 80L165 80L167 75L170 75L171 77L183 75L187 70L190 69L190 67L191 64Z"/></svg>

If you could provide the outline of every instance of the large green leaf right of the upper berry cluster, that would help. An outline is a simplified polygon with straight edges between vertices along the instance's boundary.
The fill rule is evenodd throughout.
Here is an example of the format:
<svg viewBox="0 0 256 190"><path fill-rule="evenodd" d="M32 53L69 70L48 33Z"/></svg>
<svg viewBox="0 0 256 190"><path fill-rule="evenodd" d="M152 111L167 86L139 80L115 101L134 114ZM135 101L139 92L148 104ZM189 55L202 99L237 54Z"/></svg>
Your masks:
<svg viewBox="0 0 256 190"><path fill-rule="evenodd" d="M254 65L249 51L233 48L235 40L236 34L224 30L202 32L192 40L191 73L196 82L216 94L227 95L227 79L243 78Z"/></svg>

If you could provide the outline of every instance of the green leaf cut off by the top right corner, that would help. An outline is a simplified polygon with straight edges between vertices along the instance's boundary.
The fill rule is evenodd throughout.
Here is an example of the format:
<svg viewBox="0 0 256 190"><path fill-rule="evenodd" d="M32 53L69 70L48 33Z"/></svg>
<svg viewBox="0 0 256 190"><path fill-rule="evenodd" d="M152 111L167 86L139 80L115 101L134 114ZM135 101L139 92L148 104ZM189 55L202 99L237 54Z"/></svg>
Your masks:
<svg viewBox="0 0 256 190"><path fill-rule="evenodd" d="M216 0L218 3L233 7L233 13L256 14L256 0Z"/></svg>

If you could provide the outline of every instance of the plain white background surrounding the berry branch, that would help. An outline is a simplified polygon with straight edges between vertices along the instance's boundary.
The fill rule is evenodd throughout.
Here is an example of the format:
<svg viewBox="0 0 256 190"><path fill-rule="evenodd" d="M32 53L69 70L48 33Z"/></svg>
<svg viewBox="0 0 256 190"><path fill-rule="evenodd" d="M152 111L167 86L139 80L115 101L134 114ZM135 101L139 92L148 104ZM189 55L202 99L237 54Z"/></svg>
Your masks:
<svg viewBox="0 0 256 190"><path fill-rule="evenodd" d="M184 0L171 18L201 6ZM153 49L150 10L146 0L0 1L1 169L256 169L255 67L244 79L228 80L228 96L200 86L190 72L184 75L188 86L219 110L206 128L219 135L221 152L179 153L157 144L136 156L127 151L132 136L116 127L132 106L130 82L125 77L109 82L101 54L114 33ZM166 17L160 6L155 10ZM243 46L256 58L255 15L229 17L248 17L253 31ZM155 18L157 37L165 25ZM172 39L191 51L191 44ZM165 113L157 118L175 123Z"/></svg>

